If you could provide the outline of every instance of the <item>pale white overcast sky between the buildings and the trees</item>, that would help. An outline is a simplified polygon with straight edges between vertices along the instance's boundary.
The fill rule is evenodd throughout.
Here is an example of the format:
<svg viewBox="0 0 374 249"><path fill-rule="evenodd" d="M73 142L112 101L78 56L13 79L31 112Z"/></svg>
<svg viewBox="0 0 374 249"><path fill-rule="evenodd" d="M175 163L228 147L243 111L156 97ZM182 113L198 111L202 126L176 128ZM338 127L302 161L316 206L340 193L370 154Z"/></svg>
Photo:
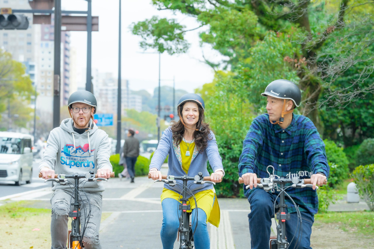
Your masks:
<svg viewBox="0 0 374 249"><path fill-rule="evenodd" d="M62 0L62 10L87 10L85 0ZM140 37L132 35L129 26L133 22L143 21L152 16L175 18L187 29L198 27L194 18L171 11L158 11L151 0L122 0L122 79L129 80L131 90L146 89L153 93L158 86L159 55L155 50L144 51L139 46ZM118 77L118 16L119 0L92 0L92 15L99 17L99 31L92 33L92 68L99 73L112 72ZM161 86L193 92L194 89L210 83L214 71L203 62L203 54L211 61L219 61L221 56L210 45L200 46L198 33L203 29L187 32L187 41L191 44L187 53L161 54ZM71 32L71 47L77 51L77 70L85 77L87 55L87 33ZM78 86L81 87L81 86ZM83 87L83 86L82 86Z"/></svg>

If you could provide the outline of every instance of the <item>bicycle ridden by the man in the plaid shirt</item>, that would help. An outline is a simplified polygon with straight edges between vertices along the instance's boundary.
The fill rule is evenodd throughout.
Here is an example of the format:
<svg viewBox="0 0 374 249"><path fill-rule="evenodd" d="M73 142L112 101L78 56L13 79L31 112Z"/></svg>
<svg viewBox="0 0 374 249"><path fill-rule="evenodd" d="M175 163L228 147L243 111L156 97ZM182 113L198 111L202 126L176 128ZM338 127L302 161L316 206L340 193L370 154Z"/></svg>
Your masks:
<svg viewBox="0 0 374 249"><path fill-rule="evenodd" d="M270 174L269 172L269 167L273 168L273 174ZM296 203L292 200L291 196L289 196L285 190L287 188L293 187L293 188L312 188L313 184L311 183L311 180L308 179L299 179L298 177L294 177L292 179L288 178L280 178L277 175L274 175L274 167L269 165L266 167L266 171L269 174L269 178L257 178L257 187L262 188L265 191L279 191L279 195L274 201L274 206L273 210L275 213L275 210L278 209L278 213L275 213L276 215L274 216L276 227L277 227L277 235L276 236L270 236L269 238L269 247L270 249L287 249L288 245L292 243L292 241L295 238L296 233L294 234L294 237L292 238L291 242L289 243L286 234L283 231L286 231L286 220L290 219L290 213L286 213L287 210L287 205L285 203L285 196L287 195L290 200L293 202L293 204L296 207L298 217L300 218L300 212L299 208L296 205ZM239 184L243 184L243 178L239 178ZM289 186L286 186L286 184L292 183ZM326 184L327 181L324 182ZM279 184L279 186L278 186ZM254 185L254 184L253 184ZM245 188L248 189L250 185L247 185ZM318 189L318 186L316 186L316 190ZM279 197L279 204L276 204L276 200ZM278 220L278 225L277 225L277 220ZM302 226L302 221L301 218L299 219L300 223L300 228ZM297 243L299 243L299 237L297 238ZM298 248L296 246L296 248Z"/></svg>

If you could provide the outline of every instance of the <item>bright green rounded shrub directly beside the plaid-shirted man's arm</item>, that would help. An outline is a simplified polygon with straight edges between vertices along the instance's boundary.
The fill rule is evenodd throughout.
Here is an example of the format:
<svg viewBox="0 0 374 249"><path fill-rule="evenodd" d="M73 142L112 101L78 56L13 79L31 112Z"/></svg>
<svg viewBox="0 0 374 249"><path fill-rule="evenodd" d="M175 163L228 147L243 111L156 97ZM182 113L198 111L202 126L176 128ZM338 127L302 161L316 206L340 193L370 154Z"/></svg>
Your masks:
<svg viewBox="0 0 374 249"><path fill-rule="evenodd" d="M336 143L324 140L327 161L330 166L329 185L334 187L343 182L349 176L349 161L342 148L337 147Z"/></svg>

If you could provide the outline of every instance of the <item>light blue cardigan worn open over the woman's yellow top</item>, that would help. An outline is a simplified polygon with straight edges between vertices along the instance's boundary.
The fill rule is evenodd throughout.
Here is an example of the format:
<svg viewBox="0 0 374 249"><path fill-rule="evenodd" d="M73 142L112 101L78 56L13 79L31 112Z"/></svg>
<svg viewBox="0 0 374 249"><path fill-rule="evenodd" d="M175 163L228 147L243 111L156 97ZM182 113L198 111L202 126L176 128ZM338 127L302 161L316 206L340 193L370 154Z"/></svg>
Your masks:
<svg viewBox="0 0 374 249"><path fill-rule="evenodd" d="M164 131L164 134L161 137L157 149L153 154L153 157L150 161L150 169L156 168L160 170L161 165L163 164L166 157L169 155L168 175L181 177L186 175L186 172L184 172L184 170L182 169L181 147L179 144L177 145L173 141L172 137L173 134L171 132L170 127L168 127ZM216 138L212 131L210 131L207 146L203 152L199 152L197 150L197 147L195 146L195 149L192 153L191 164L189 166L187 176L194 177L199 172L202 172L204 177L210 176L206 169L207 160L209 160L209 164L214 172L218 169L224 171L224 167L222 166L222 159L220 153L218 152ZM181 180L178 181L182 184ZM164 187L179 194L182 191L182 188L178 186L178 184L176 184L173 187L170 187L169 184L164 184ZM212 184L192 184L189 187L193 194L212 188ZM190 197L190 195L188 195L188 197Z"/></svg>

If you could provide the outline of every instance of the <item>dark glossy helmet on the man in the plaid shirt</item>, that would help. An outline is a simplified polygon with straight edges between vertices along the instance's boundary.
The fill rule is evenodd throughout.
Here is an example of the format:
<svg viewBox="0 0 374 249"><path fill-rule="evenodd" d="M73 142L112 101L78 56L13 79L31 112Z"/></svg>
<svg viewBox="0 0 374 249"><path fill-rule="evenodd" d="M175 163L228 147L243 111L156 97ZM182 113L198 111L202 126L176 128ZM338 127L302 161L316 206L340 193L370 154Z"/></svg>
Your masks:
<svg viewBox="0 0 374 249"><path fill-rule="evenodd" d="M299 107L301 102L301 91L299 87L289 80L275 80L267 85L262 96L273 96L279 99L290 99L295 106Z"/></svg>

